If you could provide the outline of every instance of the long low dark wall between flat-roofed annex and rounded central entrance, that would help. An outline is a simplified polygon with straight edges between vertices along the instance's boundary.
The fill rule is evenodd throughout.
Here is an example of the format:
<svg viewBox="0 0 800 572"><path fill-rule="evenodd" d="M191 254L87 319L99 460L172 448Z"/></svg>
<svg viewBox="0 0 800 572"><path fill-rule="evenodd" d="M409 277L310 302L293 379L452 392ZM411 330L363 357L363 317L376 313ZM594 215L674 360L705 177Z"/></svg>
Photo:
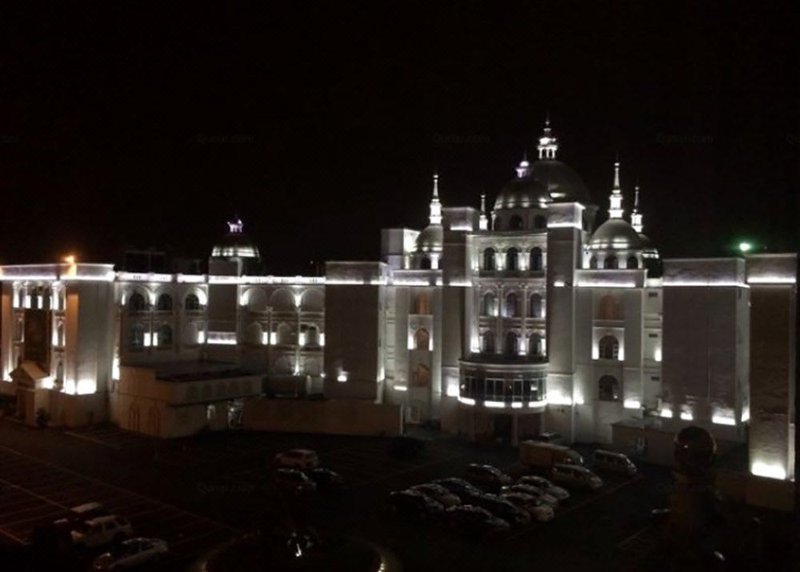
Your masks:
<svg viewBox="0 0 800 572"><path fill-rule="evenodd" d="M393 436L403 432L403 417L399 405L368 401L248 399L242 425L251 431Z"/></svg>

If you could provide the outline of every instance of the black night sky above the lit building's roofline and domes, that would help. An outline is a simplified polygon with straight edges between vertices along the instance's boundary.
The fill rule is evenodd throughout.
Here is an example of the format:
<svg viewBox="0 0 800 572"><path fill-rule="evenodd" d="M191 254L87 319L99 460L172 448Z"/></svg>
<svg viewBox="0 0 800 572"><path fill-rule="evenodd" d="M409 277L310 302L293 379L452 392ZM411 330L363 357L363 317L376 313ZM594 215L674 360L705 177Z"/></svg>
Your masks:
<svg viewBox="0 0 800 572"><path fill-rule="evenodd" d="M269 273L375 259L434 169L493 201L548 111L604 212L619 152L664 256L797 248L788 3L170 4L0 18L3 263L206 257L235 213Z"/></svg>

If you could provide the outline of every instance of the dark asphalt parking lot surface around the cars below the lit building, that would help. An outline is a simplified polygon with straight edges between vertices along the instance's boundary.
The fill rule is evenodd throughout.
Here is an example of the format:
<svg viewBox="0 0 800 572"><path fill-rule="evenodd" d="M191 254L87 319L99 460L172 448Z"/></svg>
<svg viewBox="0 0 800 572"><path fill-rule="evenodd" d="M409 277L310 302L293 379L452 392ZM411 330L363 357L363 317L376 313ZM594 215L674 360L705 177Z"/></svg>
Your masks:
<svg viewBox="0 0 800 572"><path fill-rule="evenodd" d="M339 494L317 494L307 507L308 522L323 537L348 534L387 547L406 570L572 569L618 560L620 545L648 525L650 508L663 505L668 492L669 471L660 468L647 468L644 477L611 478L597 492L574 492L553 521L514 529L487 548L442 523L398 519L388 495L463 476L471 462L518 476L518 452L429 436L418 456L398 459L381 437L223 433L159 441L113 427L62 433L15 426L10 434L0 431L0 443L13 441L17 451L0 448L0 538L25 541L37 522L99 500L128 516L137 532L165 538L176 555L197 555L236 530L291 522L270 487L270 461L295 447L317 450L321 463L349 485Z"/></svg>

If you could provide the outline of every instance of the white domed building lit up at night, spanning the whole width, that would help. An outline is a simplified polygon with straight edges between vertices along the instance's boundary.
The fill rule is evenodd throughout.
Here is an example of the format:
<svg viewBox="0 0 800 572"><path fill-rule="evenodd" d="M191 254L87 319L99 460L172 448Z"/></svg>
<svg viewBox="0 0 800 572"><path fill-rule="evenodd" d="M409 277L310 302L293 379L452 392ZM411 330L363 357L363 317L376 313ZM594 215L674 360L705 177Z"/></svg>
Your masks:
<svg viewBox="0 0 800 572"><path fill-rule="evenodd" d="M297 430L316 400L263 396L316 394L311 430L556 431L657 462L695 424L747 442L754 474L791 477L796 254L662 261L638 188L626 217L619 162L597 225L549 124L537 151L491 209L446 206L435 175L426 228L384 229L380 261L324 277L261 274L241 221L208 274L2 267L0 389L30 422L44 409L162 437L242 408Z"/></svg>

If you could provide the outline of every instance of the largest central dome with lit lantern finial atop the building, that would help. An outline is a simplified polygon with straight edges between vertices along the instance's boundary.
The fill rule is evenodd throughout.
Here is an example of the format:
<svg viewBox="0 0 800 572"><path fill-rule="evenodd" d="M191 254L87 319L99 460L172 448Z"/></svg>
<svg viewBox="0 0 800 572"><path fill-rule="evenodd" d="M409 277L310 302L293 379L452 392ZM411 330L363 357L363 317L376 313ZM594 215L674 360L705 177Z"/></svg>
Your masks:
<svg viewBox="0 0 800 572"><path fill-rule="evenodd" d="M495 201L494 230L539 230L547 228L546 209L551 203L578 202L584 205L584 230L590 230L597 211L591 205L589 190L571 167L556 159L558 139L550 119L537 146L539 157L533 163L525 156L517 176L506 184Z"/></svg>

